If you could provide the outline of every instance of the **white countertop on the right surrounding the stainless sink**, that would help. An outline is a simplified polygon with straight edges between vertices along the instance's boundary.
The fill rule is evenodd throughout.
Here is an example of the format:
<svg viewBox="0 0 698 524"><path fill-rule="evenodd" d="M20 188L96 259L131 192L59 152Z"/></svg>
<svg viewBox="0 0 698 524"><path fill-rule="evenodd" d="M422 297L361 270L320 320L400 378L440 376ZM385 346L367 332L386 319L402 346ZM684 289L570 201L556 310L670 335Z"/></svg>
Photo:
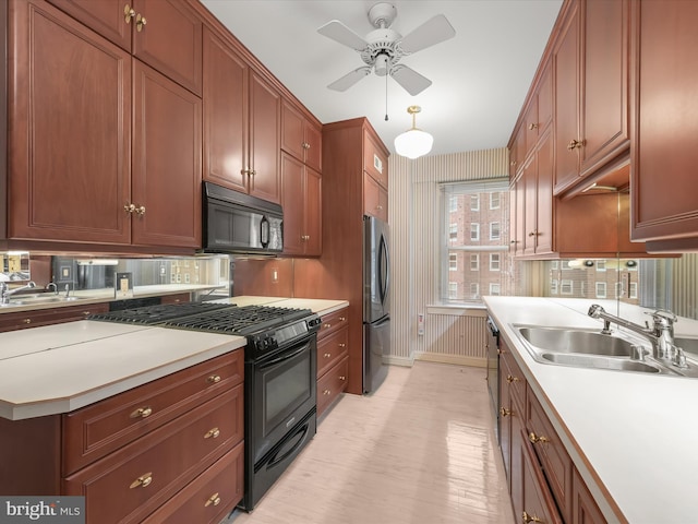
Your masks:
<svg viewBox="0 0 698 524"><path fill-rule="evenodd" d="M618 522L618 512L633 524L698 522L698 380L539 364L513 326L602 327L587 315L589 306L617 315L614 301L485 297L485 303L609 522ZM622 305L619 315L643 324L646 311ZM675 334L696 336L698 322L679 319Z"/></svg>

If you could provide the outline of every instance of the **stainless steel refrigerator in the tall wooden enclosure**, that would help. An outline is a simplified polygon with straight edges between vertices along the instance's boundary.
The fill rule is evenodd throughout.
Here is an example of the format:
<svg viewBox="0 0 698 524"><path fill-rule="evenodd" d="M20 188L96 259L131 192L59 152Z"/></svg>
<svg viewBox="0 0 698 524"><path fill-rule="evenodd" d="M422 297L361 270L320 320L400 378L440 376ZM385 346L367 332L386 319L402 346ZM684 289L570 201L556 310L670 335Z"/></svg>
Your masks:
<svg viewBox="0 0 698 524"><path fill-rule="evenodd" d="M388 225L363 217L363 392L375 391L387 376L390 354L390 249Z"/></svg>

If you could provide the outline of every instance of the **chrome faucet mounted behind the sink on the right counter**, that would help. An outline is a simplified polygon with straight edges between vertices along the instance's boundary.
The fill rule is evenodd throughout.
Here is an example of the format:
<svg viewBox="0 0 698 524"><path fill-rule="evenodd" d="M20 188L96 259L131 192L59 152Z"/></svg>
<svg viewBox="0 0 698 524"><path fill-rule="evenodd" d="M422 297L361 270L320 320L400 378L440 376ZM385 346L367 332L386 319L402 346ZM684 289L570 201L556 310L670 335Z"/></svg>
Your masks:
<svg viewBox="0 0 698 524"><path fill-rule="evenodd" d="M652 343L652 356L654 358L672 359L674 364L679 366L678 362L682 360L683 352L674 345L674 323L677 322L678 319L671 311L663 309L658 309L648 314L652 317L652 327L649 325L642 326L629 320L606 313L598 303L589 308L589 317L603 320L603 330L601 330L601 333L605 335L611 334L611 322L614 322L649 340Z"/></svg>

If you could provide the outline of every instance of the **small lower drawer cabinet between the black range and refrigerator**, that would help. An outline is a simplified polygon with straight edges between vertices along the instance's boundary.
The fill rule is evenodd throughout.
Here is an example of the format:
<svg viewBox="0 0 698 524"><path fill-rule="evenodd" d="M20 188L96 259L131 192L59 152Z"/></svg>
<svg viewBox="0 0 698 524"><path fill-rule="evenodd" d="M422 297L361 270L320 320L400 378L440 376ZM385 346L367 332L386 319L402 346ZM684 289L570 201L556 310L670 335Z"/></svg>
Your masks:
<svg viewBox="0 0 698 524"><path fill-rule="evenodd" d="M317 332L317 417L347 390L349 379L349 309L322 318Z"/></svg>

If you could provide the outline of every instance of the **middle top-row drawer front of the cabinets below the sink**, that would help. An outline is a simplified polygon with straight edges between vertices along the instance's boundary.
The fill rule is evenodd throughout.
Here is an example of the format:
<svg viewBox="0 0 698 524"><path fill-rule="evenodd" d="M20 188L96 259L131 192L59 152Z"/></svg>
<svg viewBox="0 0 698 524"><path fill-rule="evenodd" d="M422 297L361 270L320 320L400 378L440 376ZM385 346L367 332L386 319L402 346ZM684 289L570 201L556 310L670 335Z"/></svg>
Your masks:
<svg viewBox="0 0 698 524"><path fill-rule="evenodd" d="M532 391L528 392L527 404L526 432L528 440L532 443L535 455L543 466L559 511L564 520L568 521L571 513L571 458Z"/></svg>

